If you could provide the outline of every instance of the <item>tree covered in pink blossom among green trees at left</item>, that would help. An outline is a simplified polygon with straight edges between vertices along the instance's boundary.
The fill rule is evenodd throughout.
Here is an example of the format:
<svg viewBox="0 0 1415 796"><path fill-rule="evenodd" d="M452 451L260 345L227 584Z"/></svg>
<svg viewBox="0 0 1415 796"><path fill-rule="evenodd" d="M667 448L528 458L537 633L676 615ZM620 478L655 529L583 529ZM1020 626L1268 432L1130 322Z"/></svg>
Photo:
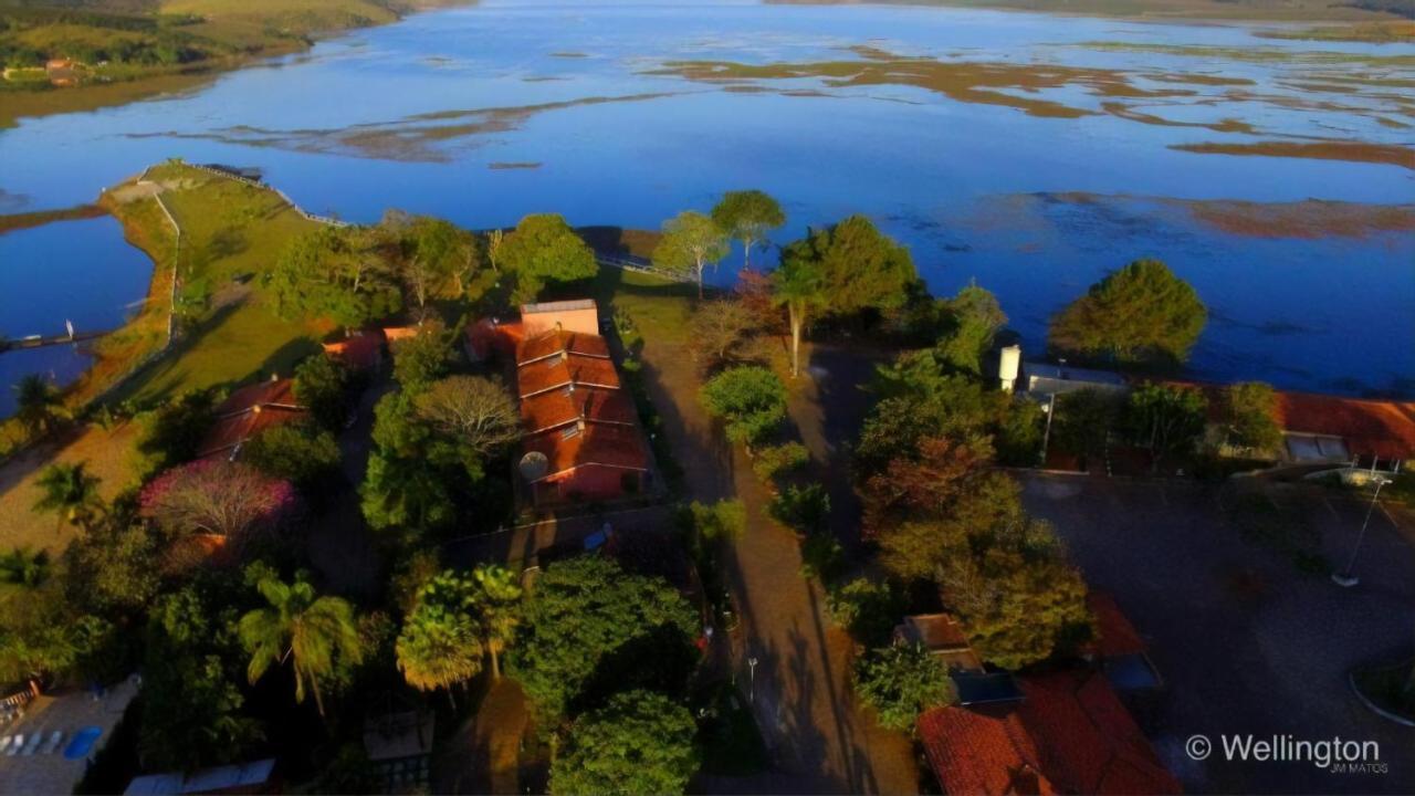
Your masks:
<svg viewBox="0 0 1415 796"><path fill-rule="evenodd" d="M202 459L153 479L139 497L143 517L173 534L204 533L241 547L276 525L296 503L289 482L241 462Z"/></svg>

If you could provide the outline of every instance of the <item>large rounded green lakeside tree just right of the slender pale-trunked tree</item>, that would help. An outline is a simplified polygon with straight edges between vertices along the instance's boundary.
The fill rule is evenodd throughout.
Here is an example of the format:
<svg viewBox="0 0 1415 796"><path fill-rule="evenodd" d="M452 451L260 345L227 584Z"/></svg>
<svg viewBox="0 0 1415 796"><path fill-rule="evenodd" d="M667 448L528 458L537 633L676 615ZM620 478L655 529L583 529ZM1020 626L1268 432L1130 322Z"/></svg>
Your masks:
<svg viewBox="0 0 1415 796"><path fill-rule="evenodd" d="M918 280L908 249L896 244L863 215L812 229L781 252L787 263L814 263L821 275L824 305L831 314L894 310Z"/></svg>

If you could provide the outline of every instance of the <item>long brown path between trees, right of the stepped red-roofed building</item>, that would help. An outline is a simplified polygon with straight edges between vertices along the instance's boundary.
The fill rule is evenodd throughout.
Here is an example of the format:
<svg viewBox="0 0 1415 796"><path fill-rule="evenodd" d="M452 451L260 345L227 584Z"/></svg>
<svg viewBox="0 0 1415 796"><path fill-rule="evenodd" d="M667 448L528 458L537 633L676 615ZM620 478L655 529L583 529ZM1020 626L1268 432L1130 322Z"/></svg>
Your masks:
<svg viewBox="0 0 1415 796"><path fill-rule="evenodd" d="M849 687L852 642L831 626L821 589L801 578L799 545L766 516L768 496L746 456L727 446L698 405L691 357L678 346L649 343L644 361L688 496L740 497L747 507L747 533L724 559L743 620L732 657L774 765L760 776L703 785L712 792L916 792L908 739L857 708ZM822 433L815 423L807 431ZM757 660L754 678L749 659Z"/></svg>

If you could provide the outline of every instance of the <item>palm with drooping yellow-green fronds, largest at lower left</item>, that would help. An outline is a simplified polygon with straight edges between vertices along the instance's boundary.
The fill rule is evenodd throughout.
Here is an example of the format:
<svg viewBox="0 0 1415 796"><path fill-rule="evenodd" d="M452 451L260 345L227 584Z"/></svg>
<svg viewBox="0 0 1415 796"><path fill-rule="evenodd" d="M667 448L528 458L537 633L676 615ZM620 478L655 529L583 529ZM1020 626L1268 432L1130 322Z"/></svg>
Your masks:
<svg viewBox="0 0 1415 796"><path fill-rule="evenodd" d="M256 586L270 603L241 618L236 633L250 653L246 676L253 686L272 664L294 667L294 701L304 701L304 684L314 691L314 704L324 715L320 677L334 671L335 657L350 663L364 660L354 608L337 596L318 596L304 575L286 584L267 576Z"/></svg>

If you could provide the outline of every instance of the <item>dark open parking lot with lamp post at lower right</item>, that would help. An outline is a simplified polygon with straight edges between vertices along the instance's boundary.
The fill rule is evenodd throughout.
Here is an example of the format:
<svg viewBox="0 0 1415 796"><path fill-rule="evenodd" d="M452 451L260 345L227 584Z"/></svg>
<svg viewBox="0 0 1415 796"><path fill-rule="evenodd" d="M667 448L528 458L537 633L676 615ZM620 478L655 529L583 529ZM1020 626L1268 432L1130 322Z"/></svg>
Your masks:
<svg viewBox="0 0 1415 796"><path fill-rule="evenodd" d="M1196 483L1023 474L1033 513L1056 523L1094 589L1150 643L1163 691L1136 718L1190 792L1411 793L1415 728L1368 712L1347 686L1353 666L1415 644L1415 531L1377 511L1341 589L1230 524L1225 490ZM1365 504L1319 487L1283 487L1334 564L1350 555ZM1206 761L1184 752L1207 735ZM1221 735L1375 741L1387 773L1309 762L1225 761Z"/></svg>

